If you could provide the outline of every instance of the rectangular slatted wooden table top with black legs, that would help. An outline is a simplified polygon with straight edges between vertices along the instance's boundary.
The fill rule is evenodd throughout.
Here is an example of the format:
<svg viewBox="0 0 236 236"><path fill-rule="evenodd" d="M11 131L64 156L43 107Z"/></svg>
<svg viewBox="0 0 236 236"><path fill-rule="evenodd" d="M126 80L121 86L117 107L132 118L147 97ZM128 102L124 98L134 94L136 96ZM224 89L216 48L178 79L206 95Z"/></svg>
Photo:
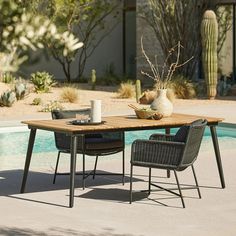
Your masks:
<svg viewBox="0 0 236 236"><path fill-rule="evenodd" d="M189 124L197 119L206 119L208 125L217 125L222 122L222 118L204 117L196 115L172 114L170 117L161 120L138 119L136 116L108 116L103 117L104 124L99 125L72 125L68 122L72 119L59 120L27 120L22 123L29 128L57 131L69 134L106 132L106 131L132 131L180 127Z"/></svg>

